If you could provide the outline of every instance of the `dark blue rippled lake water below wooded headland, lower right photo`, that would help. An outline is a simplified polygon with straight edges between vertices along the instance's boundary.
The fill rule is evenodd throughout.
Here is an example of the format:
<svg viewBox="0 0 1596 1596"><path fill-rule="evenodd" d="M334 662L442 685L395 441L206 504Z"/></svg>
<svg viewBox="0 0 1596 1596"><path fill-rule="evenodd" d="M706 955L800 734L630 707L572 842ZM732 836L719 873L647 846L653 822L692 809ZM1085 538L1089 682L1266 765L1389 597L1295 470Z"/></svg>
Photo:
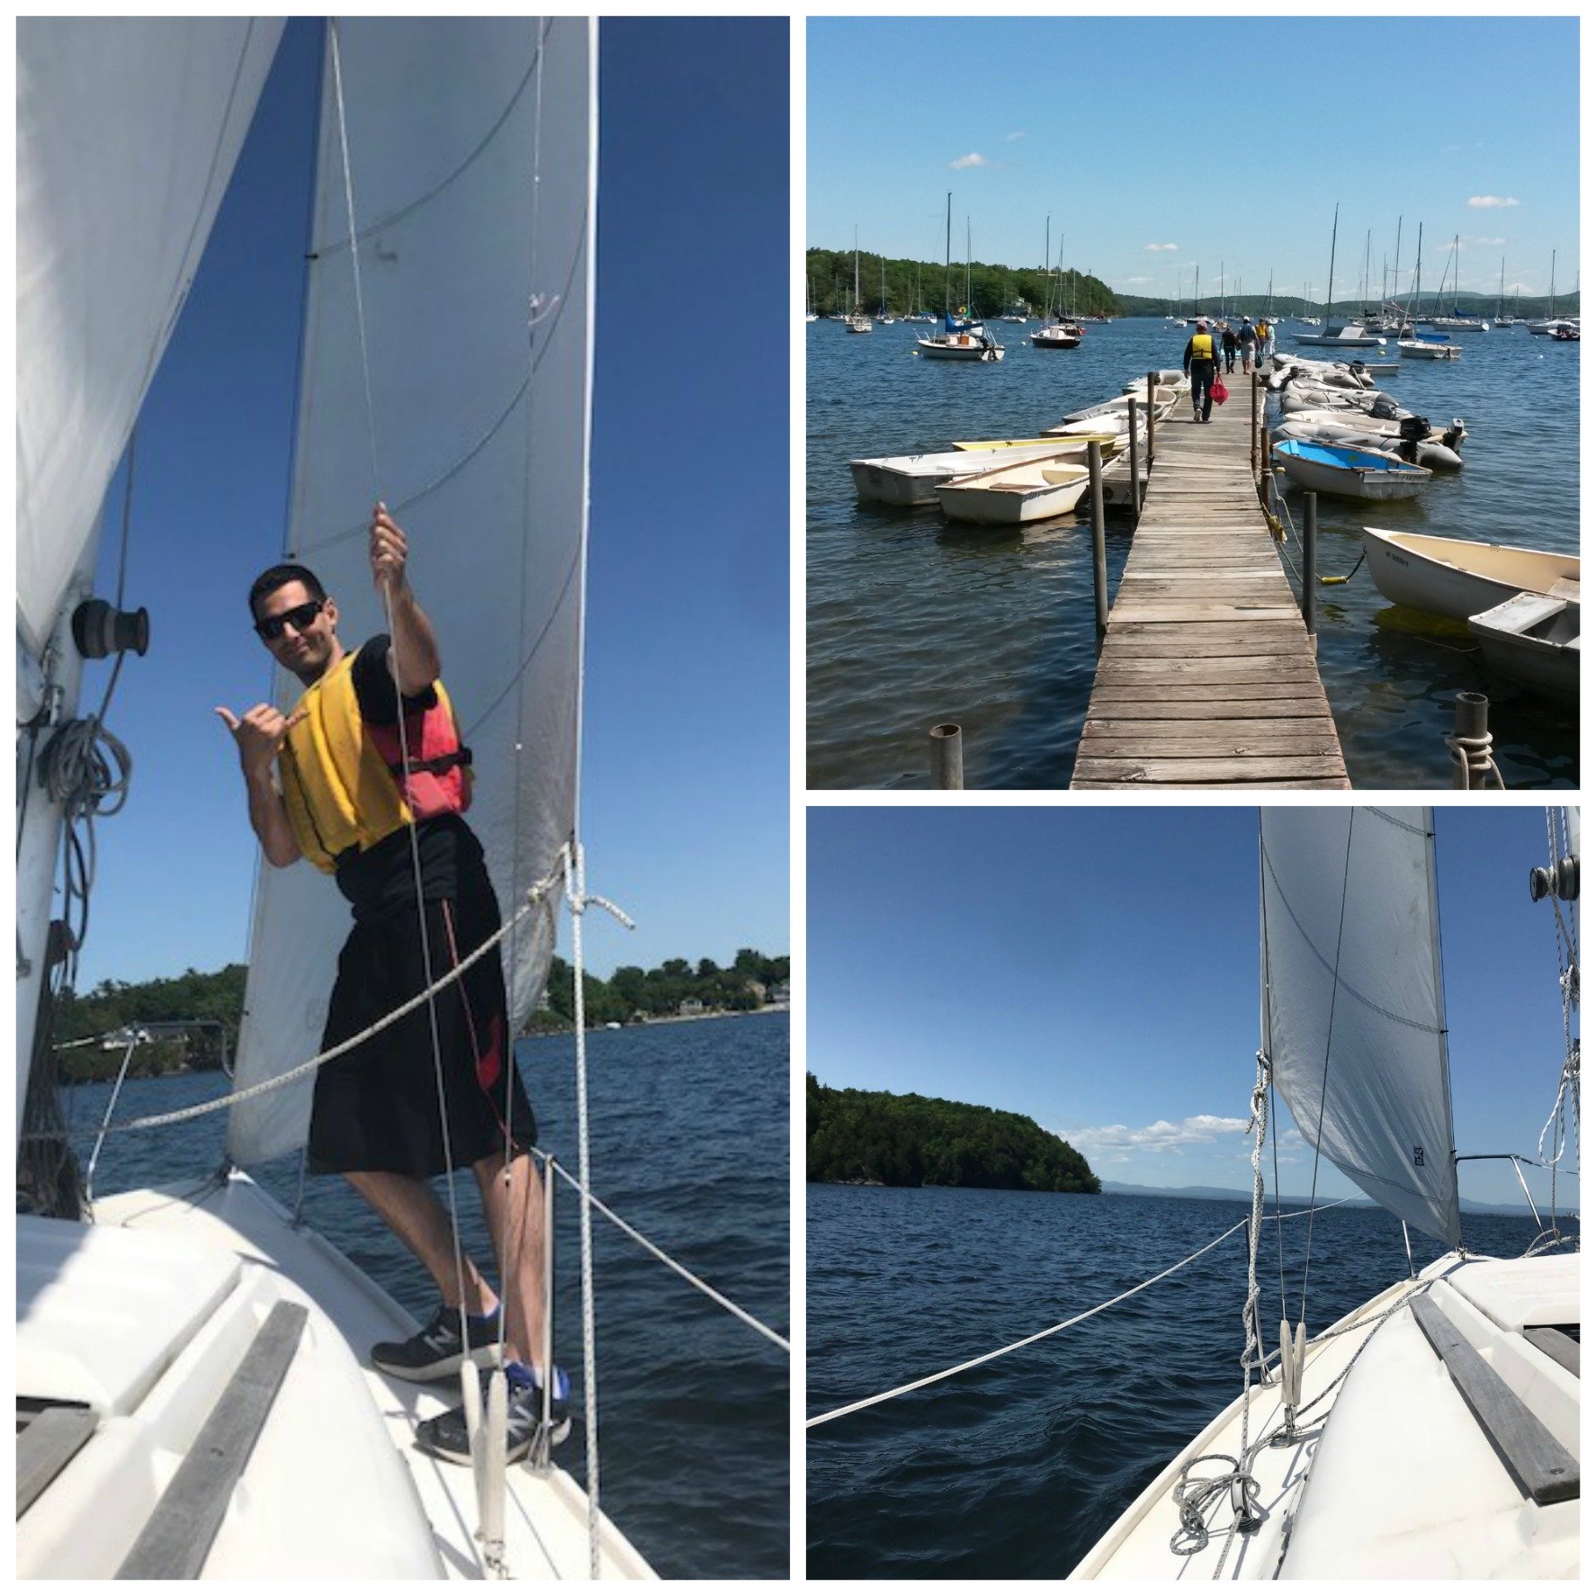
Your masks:
<svg viewBox="0 0 1596 1596"><path fill-rule="evenodd" d="M806 1207L811 1416L1095 1307L1250 1213L1243 1202L870 1186L809 1186ZM1294 1323L1307 1221L1282 1231ZM1523 1221L1464 1215L1476 1251L1518 1256L1534 1232L1527 1208ZM1414 1237L1419 1267L1440 1251ZM1267 1333L1280 1321L1272 1242L1258 1272ZM1309 1333L1406 1272L1387 1213L1320 1213ZM1084 1325L809 1430L811 1578L1061 1578L1240 1395L1245 1296L1240 1231Z"/></svg>

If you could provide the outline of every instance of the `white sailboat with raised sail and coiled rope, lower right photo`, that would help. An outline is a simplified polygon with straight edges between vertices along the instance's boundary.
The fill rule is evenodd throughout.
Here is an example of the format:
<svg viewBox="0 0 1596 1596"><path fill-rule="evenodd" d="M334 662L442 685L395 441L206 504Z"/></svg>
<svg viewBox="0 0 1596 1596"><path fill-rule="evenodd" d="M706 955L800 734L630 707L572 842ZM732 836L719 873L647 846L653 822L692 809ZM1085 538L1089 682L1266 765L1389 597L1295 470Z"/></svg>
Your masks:
<svg viewBox="0 0 1596 1596"><path fill-rule="evenodd" d="M1562 825L1532 892L1572 900L1577 811ZM1578 1258L1555 1218L1523 1258L1464 1250L1430 812L1266 809L1259 846L1243 1392L1071 1578L1577 1578ZM1314 1336L1282 1318L1266 1353L1270 1088L1315 1157L1449 1251Z"/></svg>

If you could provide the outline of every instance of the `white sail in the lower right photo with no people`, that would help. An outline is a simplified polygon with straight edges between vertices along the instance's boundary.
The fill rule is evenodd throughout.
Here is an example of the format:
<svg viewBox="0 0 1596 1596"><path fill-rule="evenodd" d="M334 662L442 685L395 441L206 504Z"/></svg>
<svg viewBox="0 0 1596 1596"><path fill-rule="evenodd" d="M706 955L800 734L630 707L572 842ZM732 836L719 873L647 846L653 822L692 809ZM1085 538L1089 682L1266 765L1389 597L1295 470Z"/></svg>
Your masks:
<svg viewBox="0 0 1596 1596"><path fill-rule="evenodd" d="M1460 1245L1425 809L1262 811L1262 1045L1307 1138Z"/></svg>

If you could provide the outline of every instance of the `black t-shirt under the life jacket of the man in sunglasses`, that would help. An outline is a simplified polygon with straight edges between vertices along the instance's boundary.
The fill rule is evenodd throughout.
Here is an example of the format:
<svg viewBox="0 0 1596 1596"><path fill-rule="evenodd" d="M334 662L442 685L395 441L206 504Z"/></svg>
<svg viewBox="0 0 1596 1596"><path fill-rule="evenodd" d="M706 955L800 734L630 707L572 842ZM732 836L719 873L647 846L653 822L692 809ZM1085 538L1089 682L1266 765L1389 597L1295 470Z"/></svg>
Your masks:
<svg viewBox="0 0 1596 1596"><path fill-rule="evenodd" d="M373 726L397 721L397 685L388 669L386 634L361 645L350 667L361 718ZM437 693L428 688L412 697L405 694L405 717L431 709ZM466 871L482 870L482 844L458 814L440 814L421 820L417 828L421 855L421 894L428 902L460 895L460 879ZM338 891L354 905L356 919L380 919L415 908L415 859L410 852L410 827L364 851L350 849L338 859Z"/></svg>

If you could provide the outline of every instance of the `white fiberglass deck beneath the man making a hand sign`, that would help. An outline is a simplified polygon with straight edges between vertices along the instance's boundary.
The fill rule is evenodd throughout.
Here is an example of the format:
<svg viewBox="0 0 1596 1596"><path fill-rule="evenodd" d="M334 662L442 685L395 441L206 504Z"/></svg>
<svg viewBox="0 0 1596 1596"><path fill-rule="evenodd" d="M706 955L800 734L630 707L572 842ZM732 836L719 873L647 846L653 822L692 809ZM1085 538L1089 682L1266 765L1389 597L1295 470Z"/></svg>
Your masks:
<svg viewBox="0 0 1596 1596"><path fill-rule="evenodd" d="M19 1396L81 1401L97 1419L18 1523L19 1578L115 1577L278 1301L310 1317L200 1577L487 1577L471 1470L415 1446L415 1424L458 1403L458 1384L367 1366L375 1341L415 1329L393 1298L243 1175L195 1202L105 1199L94 1218L18 1219ZM512 1467L511 1575L586 1578L586 1519L563 1470ZM600 1548L606 1578L653 1577L608 1519Z"/></svg>

